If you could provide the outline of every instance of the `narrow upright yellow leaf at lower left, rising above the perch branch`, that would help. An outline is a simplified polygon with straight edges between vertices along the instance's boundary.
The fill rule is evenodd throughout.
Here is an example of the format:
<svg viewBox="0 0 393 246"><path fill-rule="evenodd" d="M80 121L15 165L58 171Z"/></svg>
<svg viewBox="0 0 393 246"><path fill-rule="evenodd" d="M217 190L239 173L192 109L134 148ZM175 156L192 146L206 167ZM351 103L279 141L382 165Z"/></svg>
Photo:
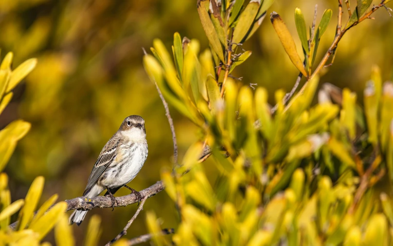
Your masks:
<svg viewBox="0 0 393 246"><path fill-rule="evenodd" d="M18 229L23 230L26 228L28 223L31 221L34 215L34 211L36 210L39 198L41 198L42 189L44 188L44 177L38 176L34 179L33 183L30 186L29 191L27 192L25 198L25 205L19 212L19 223Z"/></svg>

